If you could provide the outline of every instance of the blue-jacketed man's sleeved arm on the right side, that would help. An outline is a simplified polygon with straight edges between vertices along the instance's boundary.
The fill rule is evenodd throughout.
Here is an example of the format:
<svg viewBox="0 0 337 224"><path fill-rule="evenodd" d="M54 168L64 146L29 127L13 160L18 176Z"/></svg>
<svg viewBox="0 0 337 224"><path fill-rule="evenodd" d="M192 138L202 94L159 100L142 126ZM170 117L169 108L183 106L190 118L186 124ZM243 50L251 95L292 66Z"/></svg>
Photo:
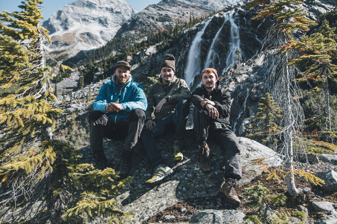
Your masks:
<svg viewBox="0 0 337 224"><path fill-rule="evenodd" d="M144 90L138 84L134 88L134 91L135 91L135 93L134 93L135 96L132 99L132 101L121 103L121 110L122 111L132 111L134 109L142 109L142 110L146 111L146 109L147 109L147 98L145 96Z"/></svg>

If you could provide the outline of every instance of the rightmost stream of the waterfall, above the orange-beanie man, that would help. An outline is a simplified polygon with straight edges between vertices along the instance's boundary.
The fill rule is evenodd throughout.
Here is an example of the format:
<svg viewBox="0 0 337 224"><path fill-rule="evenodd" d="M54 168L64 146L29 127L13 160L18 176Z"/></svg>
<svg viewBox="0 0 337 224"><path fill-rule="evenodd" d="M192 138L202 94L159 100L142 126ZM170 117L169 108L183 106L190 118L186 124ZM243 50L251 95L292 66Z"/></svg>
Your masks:
<svg viewBox="0 0 337 224"><path fill-rule="evenodd" d="M229 68L234 66L236 62L238 61L238 55L236 54L236 51L240 50L240 33L239 33L239 27L234 23L234 16L233 14L229 14L229 23L231 23L231 30L230 30L230 40L229 40L229 52L227 54L226 58L226 67L223 69L223 73L227 72Z"/></svg>

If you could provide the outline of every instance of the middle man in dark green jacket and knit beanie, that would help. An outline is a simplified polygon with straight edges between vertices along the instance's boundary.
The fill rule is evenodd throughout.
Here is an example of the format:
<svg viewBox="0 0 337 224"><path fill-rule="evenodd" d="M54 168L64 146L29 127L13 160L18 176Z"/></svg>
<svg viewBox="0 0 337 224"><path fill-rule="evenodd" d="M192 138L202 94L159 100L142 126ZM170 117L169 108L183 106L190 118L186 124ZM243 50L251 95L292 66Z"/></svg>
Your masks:
<svg viewBox="0 0 337 224"><path fill-rule="evenodd" d="M155 137L164 135L166 126L174 124L173 156L183 160L179 144L184 138L186 120L189 113L190 89L184 79L175 76L175 57L165 55L160 64L160 79L151 85L147 92L147 111L145 127L142 130L142 143L154 168L154 173L147 183L162 180L173 170L166 166Z"/></svg>

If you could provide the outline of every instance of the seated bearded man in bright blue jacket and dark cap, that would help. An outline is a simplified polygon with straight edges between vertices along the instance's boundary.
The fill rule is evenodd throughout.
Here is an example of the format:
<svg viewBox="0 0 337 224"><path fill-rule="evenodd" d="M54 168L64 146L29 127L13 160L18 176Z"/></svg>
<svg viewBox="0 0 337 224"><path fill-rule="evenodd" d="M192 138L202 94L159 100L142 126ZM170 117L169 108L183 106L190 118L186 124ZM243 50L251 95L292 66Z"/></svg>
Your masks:
<svg viewBox="0 0 337 224"><path fill-rule="evenodd" d="M147 99L142 87L132 80L131 66L118 61L111 81L104 83L89 115L90 147L97 167L108 166L103 152L103 137L125 138L119 171L125 178L131 167L132 149L145 122Z"/></svg>

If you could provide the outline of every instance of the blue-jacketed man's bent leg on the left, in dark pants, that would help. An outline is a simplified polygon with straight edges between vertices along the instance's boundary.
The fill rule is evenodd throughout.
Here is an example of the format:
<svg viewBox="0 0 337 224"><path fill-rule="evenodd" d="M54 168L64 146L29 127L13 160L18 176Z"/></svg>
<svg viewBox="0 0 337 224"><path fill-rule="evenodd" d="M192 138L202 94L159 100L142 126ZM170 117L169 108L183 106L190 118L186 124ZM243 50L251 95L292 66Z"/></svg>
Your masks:
<svg viewBox="0 0 337 224"><path fill-rule="evenodd" d="M103 151L104 129L110 127L108 117L101 111L92 111L89 114L90 124L90 150L96 160L99 169L105 169L108 165Z"/></svg>

